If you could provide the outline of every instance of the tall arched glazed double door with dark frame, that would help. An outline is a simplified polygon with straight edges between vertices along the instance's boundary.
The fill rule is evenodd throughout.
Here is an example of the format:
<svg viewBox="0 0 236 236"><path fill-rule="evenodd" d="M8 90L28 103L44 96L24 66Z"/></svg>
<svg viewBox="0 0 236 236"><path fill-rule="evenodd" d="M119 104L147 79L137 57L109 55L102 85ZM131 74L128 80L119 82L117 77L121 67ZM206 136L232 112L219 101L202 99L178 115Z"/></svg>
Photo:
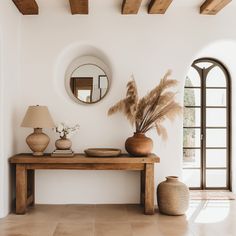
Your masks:
<svg viewBox="0 0 236 236"><path fill-rule="evenodd" d="M183 179L192 189L231 189L230 75L212 58L195 60L184 90Z"/></svg>

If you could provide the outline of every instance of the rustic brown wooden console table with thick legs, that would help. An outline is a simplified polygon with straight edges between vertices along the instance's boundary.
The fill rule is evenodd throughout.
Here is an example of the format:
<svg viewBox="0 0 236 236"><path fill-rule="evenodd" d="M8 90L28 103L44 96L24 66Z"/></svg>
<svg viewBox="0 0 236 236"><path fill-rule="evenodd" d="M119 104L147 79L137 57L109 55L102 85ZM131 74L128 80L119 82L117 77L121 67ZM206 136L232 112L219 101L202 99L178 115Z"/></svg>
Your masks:
<svg viewBox="0 0 236 236"><path fill-rule="evenodd" d="M160 159L154 154L148 157L86 157L76 154L73 157L51 157L46 154L35 157L32 154L18 154L10 158L16 165L16 214L25 214L27 206L34 205L36 169L63 170L132 170L141 171L140 203L144 213L154 214L154 163Z"/></svg>

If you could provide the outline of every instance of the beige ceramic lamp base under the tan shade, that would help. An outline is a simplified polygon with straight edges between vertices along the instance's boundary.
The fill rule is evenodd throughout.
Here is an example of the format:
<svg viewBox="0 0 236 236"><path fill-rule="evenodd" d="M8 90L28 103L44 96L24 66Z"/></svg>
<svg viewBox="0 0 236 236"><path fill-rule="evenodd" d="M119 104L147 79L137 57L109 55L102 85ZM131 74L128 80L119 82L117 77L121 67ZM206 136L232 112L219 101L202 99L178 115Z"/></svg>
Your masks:
<svg viewBox="0 0 236 236"><path fill-rule="evenodd" d="M34 133L26 138L26 143L33 151L34 156L43 156L43 152L49 144L49 137L42 132L41 128L35 128Z"/></svg>

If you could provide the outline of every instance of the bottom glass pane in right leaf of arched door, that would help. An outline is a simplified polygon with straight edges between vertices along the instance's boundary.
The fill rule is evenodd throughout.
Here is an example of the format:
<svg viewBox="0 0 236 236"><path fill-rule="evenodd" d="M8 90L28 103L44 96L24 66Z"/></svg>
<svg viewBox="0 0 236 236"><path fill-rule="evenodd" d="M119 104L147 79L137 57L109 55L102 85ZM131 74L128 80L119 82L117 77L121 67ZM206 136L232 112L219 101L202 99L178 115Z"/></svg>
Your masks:
<svg viewBox="0 0 236 236"><path fill-rule="evenodd" d="M206 170L206 187L226 187L226 170Z"/></svg>

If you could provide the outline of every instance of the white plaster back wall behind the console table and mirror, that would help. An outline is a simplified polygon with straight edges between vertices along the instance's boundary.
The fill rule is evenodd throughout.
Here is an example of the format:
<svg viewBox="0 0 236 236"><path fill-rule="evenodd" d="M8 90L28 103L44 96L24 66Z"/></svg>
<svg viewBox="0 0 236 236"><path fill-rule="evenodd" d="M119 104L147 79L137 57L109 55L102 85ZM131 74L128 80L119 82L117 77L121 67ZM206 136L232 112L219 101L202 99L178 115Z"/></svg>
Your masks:
<svg viewBox="0 0 236 236"><path fill-rule="evenodd" d="M72 16L67 1L38 2L40 15L22 18L17 124L29 105L47 105L56 122L80 123L79 134L72 138L76 152L87 147L124 149L133 130L122 115L107 117L106 112L125 95L131 74L142 96L172 69L173 78L180 81L182 102L185 76L198 53L211 42L236 40L235 5L214 17L199 15L199 5L185 5L186 1L173 2L165 15L147 15L143 8L137 16L124 16L121 1L103 0L90 1L89 16ZM64 72L78 53L99 54L112 69L111 90L98 104L78 105L64 90ZM167 175L181 175L182 119L166 125L166 143L154 131L148 134L154 140L154 152L161 157L155 168L156 184ZM18 128L16 132L17 151L29 151L24 138L31 130ZM51 137L47 151L51 152L57 136L51 130L47 133ZM38 203L139 201L139 174L135 172L37 171L36 179Z"/></svg>

